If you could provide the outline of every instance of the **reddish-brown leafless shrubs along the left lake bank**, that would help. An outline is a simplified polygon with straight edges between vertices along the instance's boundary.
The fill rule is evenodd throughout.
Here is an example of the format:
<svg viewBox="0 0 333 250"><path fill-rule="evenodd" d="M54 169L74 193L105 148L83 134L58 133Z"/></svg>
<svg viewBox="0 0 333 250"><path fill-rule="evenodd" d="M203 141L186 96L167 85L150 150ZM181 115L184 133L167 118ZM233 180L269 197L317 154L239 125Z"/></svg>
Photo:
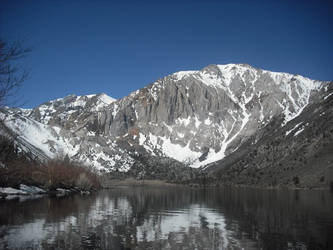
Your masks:
<svg viewBox="0 0 333 250"><path fill-rule="evenodd" d="M48 190L100 188L97 175L82 164L61 159L41 164L19 152L11 140L0 136L0 187L19 187L20 184Z"/></svg>

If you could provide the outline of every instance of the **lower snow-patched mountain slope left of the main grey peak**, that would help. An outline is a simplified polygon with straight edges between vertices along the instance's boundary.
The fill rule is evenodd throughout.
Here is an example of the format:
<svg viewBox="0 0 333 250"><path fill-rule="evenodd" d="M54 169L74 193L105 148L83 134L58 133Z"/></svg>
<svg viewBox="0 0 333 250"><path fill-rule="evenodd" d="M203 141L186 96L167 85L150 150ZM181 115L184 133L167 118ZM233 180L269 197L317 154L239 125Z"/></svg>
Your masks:
<svg viewBox="0 0 333 250"><path fill-rule="evenodd" d="M1 118L19 147L41 160L68 155L101 171L127 171L134 160L91 129L95 114L114 101L105 94L71 95L32 110L6 108Z"/></svg>

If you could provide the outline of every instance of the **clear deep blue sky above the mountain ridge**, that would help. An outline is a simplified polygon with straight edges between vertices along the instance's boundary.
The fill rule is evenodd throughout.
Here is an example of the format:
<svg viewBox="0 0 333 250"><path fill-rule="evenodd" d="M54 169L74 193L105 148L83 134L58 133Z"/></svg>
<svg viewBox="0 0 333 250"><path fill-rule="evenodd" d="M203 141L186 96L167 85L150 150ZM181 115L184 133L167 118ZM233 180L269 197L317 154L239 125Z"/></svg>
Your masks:
<svg viewBox="0 0 333 250"><path fill-rule="evenodd" d="M160 77L248 63L333 80L333 1L2 0L0 36L24 40L24 107L121 98Z"/></svg>

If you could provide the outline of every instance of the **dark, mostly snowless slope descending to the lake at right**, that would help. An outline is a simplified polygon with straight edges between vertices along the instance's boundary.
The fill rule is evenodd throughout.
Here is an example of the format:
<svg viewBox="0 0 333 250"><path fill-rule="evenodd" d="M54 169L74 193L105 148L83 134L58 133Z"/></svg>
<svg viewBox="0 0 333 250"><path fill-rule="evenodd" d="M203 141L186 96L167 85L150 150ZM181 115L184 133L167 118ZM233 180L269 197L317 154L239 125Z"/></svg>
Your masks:
<svg viewBox="0 0 333 250"><path fill-rule="evenodd" d="M213 182L333 188L333 84L285 126L277 119L261 133L206 167Z"/></svg>

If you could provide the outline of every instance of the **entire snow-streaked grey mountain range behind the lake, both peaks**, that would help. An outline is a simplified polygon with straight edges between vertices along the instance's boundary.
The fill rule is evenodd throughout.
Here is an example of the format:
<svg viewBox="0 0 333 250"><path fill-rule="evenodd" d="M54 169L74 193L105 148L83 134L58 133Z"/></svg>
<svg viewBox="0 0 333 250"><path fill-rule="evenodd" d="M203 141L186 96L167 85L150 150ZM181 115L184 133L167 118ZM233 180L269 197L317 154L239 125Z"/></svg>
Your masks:
<svg viewBox="0 0 333 250"><path fill-rule="evenodd" d="M68 154L99 170L128 171L138 156L150 155L198 168L257 143L272 122L283 128L332 93L329 82L299 75L210 65L118 100L71 95L31 110L6 108L1 116L17 144L40 158Z"/></svg>

